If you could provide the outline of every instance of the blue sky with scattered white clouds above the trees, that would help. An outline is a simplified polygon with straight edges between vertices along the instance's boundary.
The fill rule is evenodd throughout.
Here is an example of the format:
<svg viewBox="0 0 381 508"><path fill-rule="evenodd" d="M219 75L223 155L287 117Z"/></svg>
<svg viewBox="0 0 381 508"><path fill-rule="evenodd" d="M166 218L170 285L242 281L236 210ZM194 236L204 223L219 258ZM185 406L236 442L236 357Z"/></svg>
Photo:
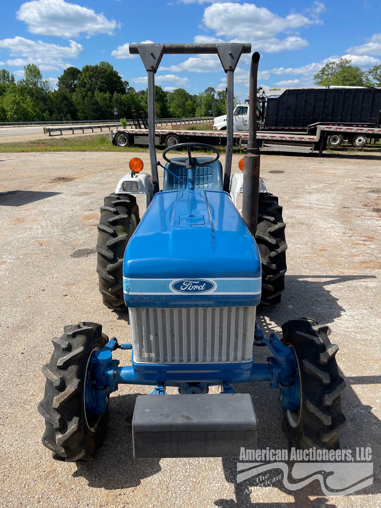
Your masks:
<svg viewBox="0 0 381 508"><path fill-rule="evenodd" d="M250 42L259 51L259 84L311 86L326 62L346 56L368 69L381 64L379 0L2 0L0 68L16 79L35 63L53 88L70 66L102 60L137 90L146 87L140 57L129 43ZM235 71L235 94L248 96L249 55ZM217 56L164 55L156 84L198 93L225 89Z"/></svg>

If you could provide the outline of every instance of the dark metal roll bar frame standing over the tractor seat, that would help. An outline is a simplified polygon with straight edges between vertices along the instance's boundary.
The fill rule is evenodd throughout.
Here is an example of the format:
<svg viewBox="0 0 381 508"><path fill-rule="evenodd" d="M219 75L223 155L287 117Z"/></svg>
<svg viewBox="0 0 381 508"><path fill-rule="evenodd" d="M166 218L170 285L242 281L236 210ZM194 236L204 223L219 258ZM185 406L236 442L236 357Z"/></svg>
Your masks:
<svg viewBox="0 0 381 508"><path fill-rule="evenodd" d="M130 44L130 53L139 54L148 77L148 145L153 192L160 190L155 148L155 73L164 54L217 54L227 74L227 126L224 190L229 192L233 154L234 70L242 53L250 53L249 43L217 44Z"/></svg>

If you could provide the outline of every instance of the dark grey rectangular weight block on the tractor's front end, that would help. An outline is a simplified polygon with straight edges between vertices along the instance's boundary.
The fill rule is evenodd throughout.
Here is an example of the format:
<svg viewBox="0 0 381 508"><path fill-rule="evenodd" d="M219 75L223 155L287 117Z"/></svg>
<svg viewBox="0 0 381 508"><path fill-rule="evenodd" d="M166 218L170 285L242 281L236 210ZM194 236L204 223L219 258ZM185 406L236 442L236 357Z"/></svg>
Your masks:
<svg viewBox="0 0 381 508"><path fill-rule="evenodd" d="M238 457L257 445L246 393L139 395L132 432L135 458Z"/></svg>

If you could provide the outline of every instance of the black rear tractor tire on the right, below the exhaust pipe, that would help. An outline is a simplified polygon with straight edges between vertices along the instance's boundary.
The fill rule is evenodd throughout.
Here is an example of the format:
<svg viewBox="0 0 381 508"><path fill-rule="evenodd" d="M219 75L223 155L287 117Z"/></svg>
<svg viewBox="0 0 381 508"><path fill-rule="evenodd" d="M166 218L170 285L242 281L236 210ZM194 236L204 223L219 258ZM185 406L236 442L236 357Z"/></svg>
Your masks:
<svg viewBox="0 0 381 508"><path fill-rule="evenodd" d="M280 303L284 291L284 274L287 271L284 237L285 224L278 198L260 193L258 201L258 227L256 242L261 255L262 293L259 308L271 308Z"/></svg>

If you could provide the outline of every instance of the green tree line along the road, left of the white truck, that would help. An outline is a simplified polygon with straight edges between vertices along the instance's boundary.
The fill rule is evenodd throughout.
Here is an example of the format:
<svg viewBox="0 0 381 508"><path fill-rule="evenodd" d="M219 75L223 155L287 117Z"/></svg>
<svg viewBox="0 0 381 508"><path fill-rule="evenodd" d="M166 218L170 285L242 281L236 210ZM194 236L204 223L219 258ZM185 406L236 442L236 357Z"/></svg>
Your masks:
<svg viewBox="0 0 381 508"><path fill-rule="evenodd" d="M24 67L18 81L0 70L0 121L105 120L113 118L114 108L118 118L131 118L133 109L147 114L147 99L147 89L135 90L104 61L65 69L54 90L33 63ZM218 116L226 113L226 91L208 87L192 95L183 88L165 91L156 85L155 108L157 118Z"/></svg>

